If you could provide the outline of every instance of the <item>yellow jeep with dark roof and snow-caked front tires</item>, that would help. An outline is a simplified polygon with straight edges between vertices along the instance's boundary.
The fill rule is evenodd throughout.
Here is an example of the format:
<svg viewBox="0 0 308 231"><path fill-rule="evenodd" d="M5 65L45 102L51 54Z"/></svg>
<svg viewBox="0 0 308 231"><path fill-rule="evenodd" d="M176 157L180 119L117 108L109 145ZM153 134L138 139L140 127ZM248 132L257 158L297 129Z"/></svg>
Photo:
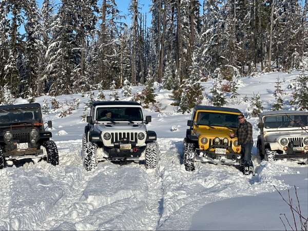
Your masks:
<svg viewBox="0 0 308 231"><path fill-rule="evenodd" d="M237 138L230 138L236 132L238 115L235 108L195 106L189 129L183 142L182 163L187 171L195 170L195 161L236 163L241 159L241 146Z"/></svg>

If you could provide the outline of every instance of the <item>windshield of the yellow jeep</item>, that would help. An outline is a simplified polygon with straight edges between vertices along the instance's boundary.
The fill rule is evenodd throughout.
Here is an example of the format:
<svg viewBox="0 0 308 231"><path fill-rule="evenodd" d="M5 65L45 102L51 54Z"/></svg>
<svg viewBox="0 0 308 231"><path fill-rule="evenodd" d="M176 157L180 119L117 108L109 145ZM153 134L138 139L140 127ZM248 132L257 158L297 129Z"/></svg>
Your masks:
<svg viewBox="0 0 308 231"><path fill-rule="evenodd" d="M238 114L200 111L197 115L197 125L237 128L238 124Z"/></svg>

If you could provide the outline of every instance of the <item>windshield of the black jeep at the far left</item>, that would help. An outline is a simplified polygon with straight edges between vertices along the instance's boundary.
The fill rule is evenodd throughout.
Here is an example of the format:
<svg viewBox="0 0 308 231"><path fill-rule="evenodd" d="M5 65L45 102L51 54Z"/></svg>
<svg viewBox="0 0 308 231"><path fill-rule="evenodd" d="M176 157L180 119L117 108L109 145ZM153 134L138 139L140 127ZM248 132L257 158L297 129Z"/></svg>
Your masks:
<svg viewBox="0 0 308 231"><path fill-rule="evenodd" d="M39 108L10 108L0 110L0 126L3 124L40 122Z"/></svg>

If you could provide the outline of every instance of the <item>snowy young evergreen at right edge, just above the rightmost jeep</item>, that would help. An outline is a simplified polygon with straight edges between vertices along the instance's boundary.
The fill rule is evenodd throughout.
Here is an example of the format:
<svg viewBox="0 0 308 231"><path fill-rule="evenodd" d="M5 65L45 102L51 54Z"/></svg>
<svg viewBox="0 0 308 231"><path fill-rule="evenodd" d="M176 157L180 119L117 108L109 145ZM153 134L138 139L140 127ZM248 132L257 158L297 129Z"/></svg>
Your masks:
<svg viewBox="0 0 308 231"><path fill-rule="evenodd" d="M291 104L297 110L308 110L308 74L302 72L296 78L296 87L293 91Z"/></svg>

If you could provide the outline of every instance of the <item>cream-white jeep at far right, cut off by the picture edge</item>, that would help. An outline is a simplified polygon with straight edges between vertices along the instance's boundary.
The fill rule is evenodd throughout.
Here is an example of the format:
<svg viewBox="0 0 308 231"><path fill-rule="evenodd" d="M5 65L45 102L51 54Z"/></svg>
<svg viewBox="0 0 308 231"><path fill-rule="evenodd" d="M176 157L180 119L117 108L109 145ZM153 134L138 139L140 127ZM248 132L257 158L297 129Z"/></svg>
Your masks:
<svg viewBox="0 0 308 231"><path fill-rule="evenodd" d="M308 158L308 112L263 112L258 127L257 148L261 159Z"/></svg>

